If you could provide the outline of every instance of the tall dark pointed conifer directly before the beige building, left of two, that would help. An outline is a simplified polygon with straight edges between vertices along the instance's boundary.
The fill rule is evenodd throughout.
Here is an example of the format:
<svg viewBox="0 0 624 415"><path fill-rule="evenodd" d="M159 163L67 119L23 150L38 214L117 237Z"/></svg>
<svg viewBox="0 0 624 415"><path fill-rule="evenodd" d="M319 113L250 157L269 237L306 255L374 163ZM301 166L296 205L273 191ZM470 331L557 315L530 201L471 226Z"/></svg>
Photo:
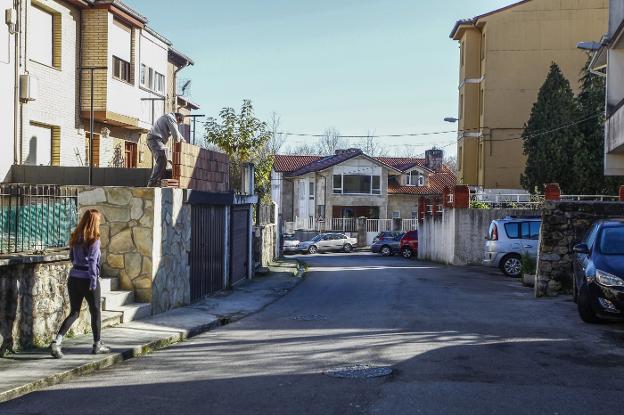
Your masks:
<svg viewBox="0 0 624 415"><path fill-rule="evenodd" d="M526 168L520 178L528 191L543 191L546 183L559 183L564 192L579 190L575 152L583 140L579 110L570 82L553 62L529 121L522 132Z"/></svg>

